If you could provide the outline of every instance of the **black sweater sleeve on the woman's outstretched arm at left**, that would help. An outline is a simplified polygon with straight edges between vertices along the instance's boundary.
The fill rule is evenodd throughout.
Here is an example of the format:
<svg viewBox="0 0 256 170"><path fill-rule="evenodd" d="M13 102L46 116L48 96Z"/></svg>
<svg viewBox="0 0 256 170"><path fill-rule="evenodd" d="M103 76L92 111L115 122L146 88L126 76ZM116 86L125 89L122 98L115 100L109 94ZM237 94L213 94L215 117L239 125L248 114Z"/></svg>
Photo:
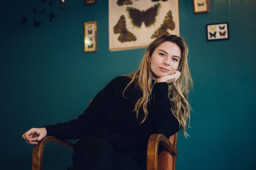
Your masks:
<svg viewBox="0 0 256 170"><path fill-rule="evenodd" d="M113 79L92 100L84 114L77 119L52 126L45 126L47 136L56 136L61 139L81 139L84 135L93 131L97 126L105 124L105 113L112 101L115 86L119 78Z"/></svg>

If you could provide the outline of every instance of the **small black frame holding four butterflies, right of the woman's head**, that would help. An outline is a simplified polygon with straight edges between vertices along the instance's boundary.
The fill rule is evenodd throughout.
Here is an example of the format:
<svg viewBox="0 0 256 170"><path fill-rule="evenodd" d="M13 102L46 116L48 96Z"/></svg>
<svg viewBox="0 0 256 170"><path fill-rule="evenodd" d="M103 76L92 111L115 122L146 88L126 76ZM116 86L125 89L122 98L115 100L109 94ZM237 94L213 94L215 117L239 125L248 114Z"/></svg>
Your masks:
<svg viewBox="0 0 256 170"><path fill-rule="evenodd" d="M206 25L207 41L229 39L229 23L214 23Z"/></svg>

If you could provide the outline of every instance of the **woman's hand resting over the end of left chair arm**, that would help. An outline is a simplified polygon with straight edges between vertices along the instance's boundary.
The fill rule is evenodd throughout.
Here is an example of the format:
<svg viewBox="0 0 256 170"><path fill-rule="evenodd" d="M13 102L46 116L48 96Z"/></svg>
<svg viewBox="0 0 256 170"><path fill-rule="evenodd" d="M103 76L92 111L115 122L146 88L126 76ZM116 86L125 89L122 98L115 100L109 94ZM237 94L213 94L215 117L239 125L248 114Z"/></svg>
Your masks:
<svg viewBox="0 0 256 170"><path fill-rule="evenodd" d="M37 144L37 141L40 141L46 135L46 128L31 128L22 135L22 138L25 139L28 144Z"/></svg>

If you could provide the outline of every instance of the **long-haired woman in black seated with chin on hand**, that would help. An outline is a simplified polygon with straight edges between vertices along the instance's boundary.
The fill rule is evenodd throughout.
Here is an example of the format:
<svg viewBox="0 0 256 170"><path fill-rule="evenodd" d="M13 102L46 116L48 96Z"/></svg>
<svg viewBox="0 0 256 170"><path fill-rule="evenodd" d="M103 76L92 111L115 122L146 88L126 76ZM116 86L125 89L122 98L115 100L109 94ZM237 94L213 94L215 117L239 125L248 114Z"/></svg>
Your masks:
<svg viewBox="0 0 256 170"><path fill-rule="evenodd" d="M153 133L166 137L186 127L192 79L186 41L176 35L155 39L139 70L113 79L77 119L22 135L29 144L45 136L81 139L71 169L146 169L147 143ZM162 148L160 149L162 150Z"/></svg>

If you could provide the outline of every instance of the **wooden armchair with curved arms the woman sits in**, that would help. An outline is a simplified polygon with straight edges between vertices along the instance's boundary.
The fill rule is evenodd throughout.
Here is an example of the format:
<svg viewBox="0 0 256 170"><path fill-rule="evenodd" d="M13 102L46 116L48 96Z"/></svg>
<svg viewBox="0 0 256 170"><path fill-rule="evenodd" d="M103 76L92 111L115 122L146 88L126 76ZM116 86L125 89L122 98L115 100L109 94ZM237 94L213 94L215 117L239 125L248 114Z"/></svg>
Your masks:
<svg viewBox="0 0 256 170"><path fill-rule="evenodd" d="M54 136L46 136L37 145L34 145L32 155L32 170L42 170L42 153L45 144L49 141L64 145L70 149L74 148L74 144L58 139ZM158 147L162 144L167 151L162 151L159 155ZM153 134L148 140L147 151L147 170L176 170L176 156L178 156L177 148L177 133L172 135L168 140L164 135Z"/></svg>

